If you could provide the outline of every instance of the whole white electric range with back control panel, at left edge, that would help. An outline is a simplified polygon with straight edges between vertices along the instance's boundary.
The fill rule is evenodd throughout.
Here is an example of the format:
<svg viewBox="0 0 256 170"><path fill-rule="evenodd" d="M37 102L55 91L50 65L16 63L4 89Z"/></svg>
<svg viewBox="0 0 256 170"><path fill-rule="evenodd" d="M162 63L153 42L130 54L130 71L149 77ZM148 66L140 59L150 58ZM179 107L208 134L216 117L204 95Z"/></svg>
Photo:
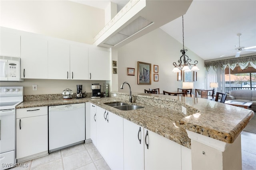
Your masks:
<svg viewBox="0 0 256 170"><path fill-rule="evenodd" d="M0 170L15 166L16 106L23 102L23 87L0 87Z"/></svg>

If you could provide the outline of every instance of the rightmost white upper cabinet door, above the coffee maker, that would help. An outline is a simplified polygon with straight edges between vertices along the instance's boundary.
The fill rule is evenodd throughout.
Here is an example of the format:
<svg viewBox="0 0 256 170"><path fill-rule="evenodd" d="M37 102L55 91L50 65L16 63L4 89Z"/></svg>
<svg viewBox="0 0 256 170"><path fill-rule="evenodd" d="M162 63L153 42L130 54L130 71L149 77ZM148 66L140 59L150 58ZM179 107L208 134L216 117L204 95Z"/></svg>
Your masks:
<svg viewBox="0 0 256 170"><path fill-rule="evenodd" d="M89 79L110 80L110 53L89 49Z"/></svg>

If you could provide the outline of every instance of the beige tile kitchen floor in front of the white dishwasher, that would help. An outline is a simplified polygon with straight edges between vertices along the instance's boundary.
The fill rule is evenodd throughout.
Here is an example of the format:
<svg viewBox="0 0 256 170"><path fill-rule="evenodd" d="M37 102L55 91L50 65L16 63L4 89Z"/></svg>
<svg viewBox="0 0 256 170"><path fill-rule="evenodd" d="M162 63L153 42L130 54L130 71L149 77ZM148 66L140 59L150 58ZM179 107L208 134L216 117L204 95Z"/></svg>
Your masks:
<svg viewBox="0 0 256 170"><path fill-rule="evenodd" d="M79 144L22 163L11 170L110 170L93 143Z"/></svg>

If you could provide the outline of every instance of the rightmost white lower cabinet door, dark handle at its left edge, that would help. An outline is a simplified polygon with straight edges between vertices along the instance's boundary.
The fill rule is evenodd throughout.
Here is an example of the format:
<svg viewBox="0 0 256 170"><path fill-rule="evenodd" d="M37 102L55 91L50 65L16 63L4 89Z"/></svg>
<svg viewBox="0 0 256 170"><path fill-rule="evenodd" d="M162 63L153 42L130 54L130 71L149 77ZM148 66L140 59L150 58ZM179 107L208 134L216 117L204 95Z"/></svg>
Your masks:
<svg viewBox="0 0 256 170"><path fill-rule="evenodd" d="M181 145L144 128L145 170L181 170Z"/></svg>

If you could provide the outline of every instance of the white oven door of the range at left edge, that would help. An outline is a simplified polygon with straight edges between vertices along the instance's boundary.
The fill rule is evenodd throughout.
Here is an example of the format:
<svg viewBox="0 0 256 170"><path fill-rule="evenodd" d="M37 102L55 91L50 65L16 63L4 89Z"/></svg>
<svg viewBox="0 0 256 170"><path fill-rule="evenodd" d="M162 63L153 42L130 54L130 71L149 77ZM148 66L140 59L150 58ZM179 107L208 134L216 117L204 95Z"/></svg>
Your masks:
<svg viewBox="0 0 256 170"><path fill-rule="evenodd" d="M15 148L15 109L0 110L0 153Z"/></svg>

